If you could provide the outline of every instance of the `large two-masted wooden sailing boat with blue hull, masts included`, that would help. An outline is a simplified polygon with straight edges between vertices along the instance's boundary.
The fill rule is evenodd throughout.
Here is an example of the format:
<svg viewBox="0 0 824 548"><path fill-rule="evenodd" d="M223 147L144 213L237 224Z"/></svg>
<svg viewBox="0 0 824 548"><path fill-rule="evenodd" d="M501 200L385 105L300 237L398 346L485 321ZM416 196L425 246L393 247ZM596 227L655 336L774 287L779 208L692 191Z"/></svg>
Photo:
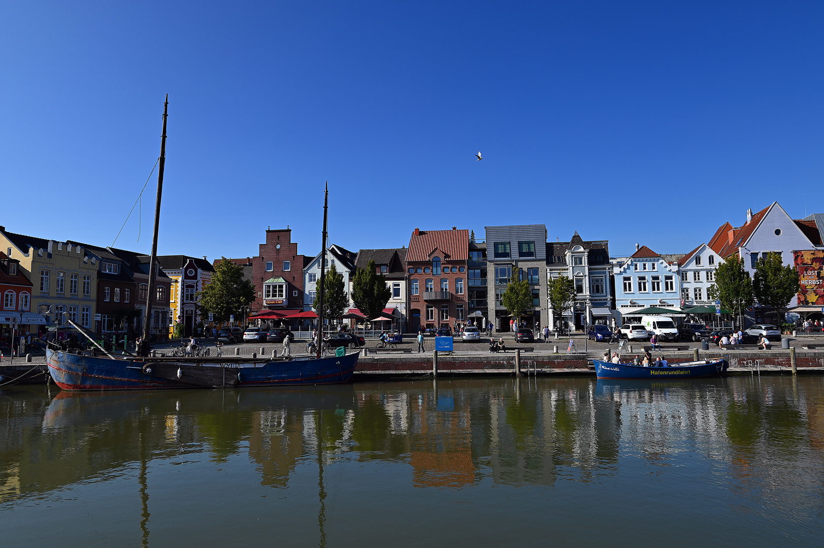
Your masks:
<svg viewBox="0 0 824 548"><path fill-rule="evenodd" d="M157 233L160 227L160 205L163 191L163 169L166 165L166 117L169 96L163 105L163 134L159 170L157 171L157 202L155 204L152 255L149 259L149 283L146 310L143 315L143 339L138 354L115 357L97 344L87 330L74 321L68 323L86 336L96 349L71 350L51 343L46 349L46 363L54 382L64 390L100 391L147 388L202 388L226 386L296 386L337 384L352 380L359 353L321 358L321 345L316 355L286 358L157 358L149 356L149 323L152 320L152 296L157 270ZM321 283L318 297L318 326L323 330L323 265L326 249L326 215L329 186L323 205L323 245L321 246Z"/></svg>

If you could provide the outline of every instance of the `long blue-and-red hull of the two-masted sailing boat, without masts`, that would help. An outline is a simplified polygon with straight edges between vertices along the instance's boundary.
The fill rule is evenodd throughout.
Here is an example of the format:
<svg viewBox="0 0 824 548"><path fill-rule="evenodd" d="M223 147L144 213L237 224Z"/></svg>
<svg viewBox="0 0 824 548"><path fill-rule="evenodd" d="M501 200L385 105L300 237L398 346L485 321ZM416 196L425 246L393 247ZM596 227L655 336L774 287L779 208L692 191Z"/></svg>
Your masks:
<svg viewBox="0 0 824 548"><path fill-rule="evenodd" d="M49 372L63 390L145 390L222 386L299 386L352 380L358 352L279 360L242 358L110 358L46 350Z"/></svg>

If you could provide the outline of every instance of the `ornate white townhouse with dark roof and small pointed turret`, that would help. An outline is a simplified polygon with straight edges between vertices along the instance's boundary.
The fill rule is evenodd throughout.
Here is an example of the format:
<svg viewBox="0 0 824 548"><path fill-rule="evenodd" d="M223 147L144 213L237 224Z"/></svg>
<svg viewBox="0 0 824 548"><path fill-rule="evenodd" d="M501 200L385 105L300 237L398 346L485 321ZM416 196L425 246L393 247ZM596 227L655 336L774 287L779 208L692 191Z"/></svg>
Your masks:
<svg viewBox="0 0 824 548"><path fill-rule="evenodd" d="M575 232L569 241L550 241L545 247L547 276L554 279L563 275L572 279L576 294L572 310L549 311L551 329L556 329L559 321L566 321L564 327L575 330L598 323L610 325L609 242L586 241Z"/></svg>

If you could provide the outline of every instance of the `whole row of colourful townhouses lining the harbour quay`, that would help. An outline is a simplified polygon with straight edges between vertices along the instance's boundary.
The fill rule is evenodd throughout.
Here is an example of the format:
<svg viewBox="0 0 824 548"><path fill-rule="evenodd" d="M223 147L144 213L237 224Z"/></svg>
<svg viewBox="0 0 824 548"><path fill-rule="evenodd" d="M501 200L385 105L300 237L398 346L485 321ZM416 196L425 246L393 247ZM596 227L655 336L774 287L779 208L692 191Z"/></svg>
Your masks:
<svg viewBox="0 0 824 548"><path fill-rule="evenodd" d="M737 227L723 222L708 236L688 253L662 254L639 242L632 255L615 257L606 238L584 240L574 232L569 241L550 241L544 224L485 227L483 241L469 229L415 228L408 244L398 248L349 251L331 244L325 250L325 269L335 266L351 296L356 269L373 260L391 291L383 316L405 332L442 326L457 330L467 324L511 330L503 293L515 271L527 280L533 296L522 323L535 329L555 329L561 322L576 330L620 324L647 307L714 311L709 287L717 266L731 255L742 258L752 274L757 260L779 254L785 265L803 274L801 293L789 307L806 307L808 312L824 307L824 214L794 219L774 202L757 213L747 210ZM68 314L102 335L138 332L146 304L147 255L28 237L5 227L0 227L0 244L6 250L0 253L0 328L7 328L16 315L18 324L34 332L55 315ZM306 319L290 321L288 316L312 309L321 253L301 255L287 227L266 230L258 255L230 260L241 265L255 285L255 300L243 316L278 311L294 328L308 325ZM179 321L189 335L208 323L199 314L198 293L218 261L188 255L159 258L153 333L165 337ZM547 299L547 281L559 276L574 281L577 298L570 310L554 311ZM747 324L777 320L757 306L736 312ZM369 320L351 301L346 317L355 323Z"/></svg>

